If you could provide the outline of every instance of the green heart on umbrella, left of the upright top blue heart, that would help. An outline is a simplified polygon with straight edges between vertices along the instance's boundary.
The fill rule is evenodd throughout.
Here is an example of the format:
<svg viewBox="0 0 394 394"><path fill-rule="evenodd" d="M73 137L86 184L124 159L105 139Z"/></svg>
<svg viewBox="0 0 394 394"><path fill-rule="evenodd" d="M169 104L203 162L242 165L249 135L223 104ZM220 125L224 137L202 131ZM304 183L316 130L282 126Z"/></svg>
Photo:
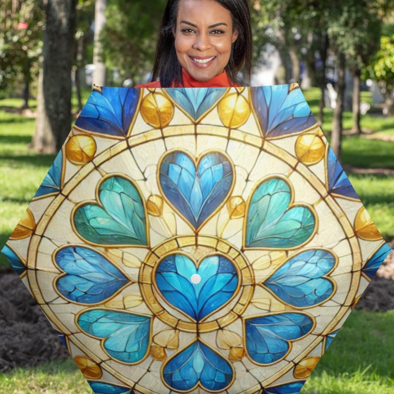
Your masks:
<svg viewBox="0 0 394 394"><path fill-rule="evenodd" d="M98 245L147 245L144 205L131 181L106 178L99 184L99 202L83 203L74 213L82 238Z"/></svg>

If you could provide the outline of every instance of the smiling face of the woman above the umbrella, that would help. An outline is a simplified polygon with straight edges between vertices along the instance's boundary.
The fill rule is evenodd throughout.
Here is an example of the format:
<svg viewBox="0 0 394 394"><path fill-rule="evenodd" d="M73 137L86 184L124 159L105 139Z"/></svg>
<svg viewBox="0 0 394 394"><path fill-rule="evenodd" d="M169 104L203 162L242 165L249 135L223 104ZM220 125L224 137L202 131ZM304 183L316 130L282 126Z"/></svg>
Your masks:
<svg viewBox="0 0 394 394"><path fill-rule="evenodd" d="M223 72L238 37L230 11L215 0L180 0L173 34L178 62L202 82Z"/></svg>

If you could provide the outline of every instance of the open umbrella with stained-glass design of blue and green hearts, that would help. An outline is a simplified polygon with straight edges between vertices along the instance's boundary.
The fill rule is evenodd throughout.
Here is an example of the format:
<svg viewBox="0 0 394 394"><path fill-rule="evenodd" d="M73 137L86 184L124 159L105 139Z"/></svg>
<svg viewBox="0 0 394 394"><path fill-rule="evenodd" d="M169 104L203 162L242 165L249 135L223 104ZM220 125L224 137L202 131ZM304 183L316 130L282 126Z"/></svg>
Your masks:
<svg viewBox="0 0 394 394"><path fill-rule="evenodd" d="M95 87L2 252L99 394L296 394L390 248L297 84Z"/></svg>

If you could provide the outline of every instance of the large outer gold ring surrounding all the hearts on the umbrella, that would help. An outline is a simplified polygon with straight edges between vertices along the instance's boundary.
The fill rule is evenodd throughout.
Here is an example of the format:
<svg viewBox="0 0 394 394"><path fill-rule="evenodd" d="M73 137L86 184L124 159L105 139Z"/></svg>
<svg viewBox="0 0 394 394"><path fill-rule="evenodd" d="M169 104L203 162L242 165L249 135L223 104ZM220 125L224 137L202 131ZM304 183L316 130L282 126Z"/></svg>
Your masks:
<svg viewBox="0 0 394 394"><path fill-rule="evenodd" d="M141 89L142 91L143 89ZM230 89L231 91L232 89ZM251 88L247 88L247 95L250 99L250 90ZM234 88L235 91L235 88ZM139 102L142 99L142 95L140 95ZM137 106L137 109L139 105ZM184 112L181 108L178 107L178 109L181 110L181 112ZM253 114L253 119L256 123L256 127L258 130L260 129L260 124L257 120L255 109L253 105L251 105L252 109L252 114ZM206 114L205 114L206 115ZM196 137L198 135L213 135L214 132L212 129L215 129L215 135L217 136L222 136L223 138L232 140L232 141L237 141L237 142L242 142L246 145L256 147L261 149L263 152L266 152L277 159L281 160L282 162L288 164L295 172L297 172L302 178L304 178L309 184L310 187L312 187L320 196L321 199L325 201L325 203L328 205L330 208L332 214L337 218L338 225L346 234L346 240L348 241L349 247L352 251L352 254L355 258L353 262L353 271L352 271L352 279L350 283L350 291L348 296L346 297L345 302L342 304L342 306L338 306L339 310L335 314L335 316L332 317L331 321L328 322L327 327L324 329L324 332L321 333L320 335L316 335L316 339L314 339L308 350L310 348L314 348L319 345L320 342L324 340L324 335L327 335L330 331L334 330L338 326L338 323L343 319L343 317L346 315L346 313L350 310L350 307L352 305L353 299L355 297L355 294L358 289L359 281L360 281L360 272L358 272L361 269L361 250L360 250L360 244L359 241L354 234L354 229L352 224L350 223L349 219L343 212L343 209L340 207L340 205L337 203L335 200L334 196L331 196L328 194L327 191L327 186L326 186L326 179L325 181L322 181L320 178L317 177L317 175L312 172L306 165L298 162L295 156L293 156L291 153L285 151L283 148L274 145L270 143L270 141L273 141L273 138L269 138L269 140L265 139L262 134L260 136L257 135L252 135L246 131L243 130L238 130L238 129L231 129L229 131L228 128L224 127L223 125L209 125L211 126L211 129L202 129L199 130L196 128L196 123L195 121L192 121L191 124L189 125L183 125L183 129L179 130L178 125L174 126L168 126L165 128L164 133L162 133L160 130L155 130L151 129L148 131L144 131L143 133L140 134L132 134L132 128L135 123L135 119L137 117L134 117L133 122L130 126L128 135L125 137L114 137L114 136L103 136L102 134L95 133L95 132L88 132L88 131L83 131L84 134L88 135L94 135L103 139L111 139L115 142L114 145L104 149L102 152L100 152L95 159L93 160L94 163L90 162L88 164L83 165L79 171L77 171L73 178L69 179L66 184L64 184L62 193L53 193L53 194L48 194L43 197L36 197L33 198L33 201L41 199L41 198L47 198L50 196L54 196L53 200L48 204L47 208L42 214L42 217L38 220L36 224L36 228L34 230L34 233L30 239L29 242L29 247L28 247L28 256L26 259L27 262L27 280L29 282L29 286L32 291L32 295L35 298L35 300L40 304L40 307L44 311L45 315L50 319L50 321L57 326L58 329L63 331L65 335L67 336L68 340L71 341L72 343L75 344L80 350L84 351L86 354L89 354L92 359L96 360L97 362L102 362L101 359L95 354L92 354L91 350L87 348L80 340L79 338L75 337L72 332L69 331L68 328L66 328L65 324L55 315L53 312L51 305L48 303L48 301L45 300L43 294L41 293L39 287L38 287L38 278L37 278L37 273L39 272L40 269L36 268L36 257L38 253L38 249L41 243L41 240L43 238L43 235L50 223L51 217L56 213L56 211L59 209L59 207L62 205L62 203L67 199L68 195L79 185L79 183L90 173L95 171L97 167L99 167L101 164L104 164L108 162L109 160L113 159L117 155L128 151L132 149L135 146L140 146L144 145L147 142L153 142L153 141L158 141L162 139L167 139L171 138L172 136L182 136L182 135L195 135ZM202 118L201 118L202 119ZM199 119L199 121L201 121ZM306 132L310 132L313 129L316 129L316 125L312 126L310 129L300 131L297 133L292 133L286 136L282 136L280 138L286 138L288 136L292 135L298 135ZM76 129L76 128L75 128ZM77 130L77 129L76 129ZM177 133L173 133L176 131ZM278 139L280 139L278 138ZM126 140L125 140L126 139ZM324 138L324 141L327 143L327 140ZM327 144L328 145L328 144ZM328 146L327 146L328 149ZM327 156L326 156L327 157ZM325 160L327 160L325 158ZM65 161L65 155L63 155L63 162ZM327 169L325 170L325 175L327 178ZM63 168L62 170L62 184L63 184L63 179L65 176L65 169ZM357 202L357 200L353 198L347 198L347 197L340 197L340 199L349 199L351 201ZM195 237L193 237L195 239ZM56 247L55 247L56 249ZM59 272L61 273L61 272ZM294 360L295 362L300 361L303 357L304 354L307 352L302 352L301 355L297 356L296 359ZM122 382L124 382L127 385L132 385L134 386L135 383L128 378L127 376L120 376L119 373L111 366L108 364L103 364L103 367L106 371L108 371L110 374L113 376L116 376L118 379L120 379ZM272 384L274 383L278 378L283 376L286 372L288 372L291 368L294 367L294 364L289 363L289 365L285 368L281 368L279 371L272 373L272 375L266 380L266 384ZM253 387L251 387L249 390L259 390L260 385L257 384ZM151 393L150 390L147 390L140 385L135 386L136 389L141 391L141 393L149 394Z"/></svg>

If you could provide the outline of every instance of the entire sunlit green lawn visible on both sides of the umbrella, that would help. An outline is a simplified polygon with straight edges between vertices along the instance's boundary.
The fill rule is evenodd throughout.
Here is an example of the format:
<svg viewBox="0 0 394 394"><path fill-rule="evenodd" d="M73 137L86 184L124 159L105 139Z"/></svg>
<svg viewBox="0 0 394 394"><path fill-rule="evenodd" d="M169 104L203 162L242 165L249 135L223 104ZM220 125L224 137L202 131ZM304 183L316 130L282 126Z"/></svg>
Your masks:
<svg viewBox="0 0 394 394"><path fill-rule="evenodd" d="M311 89L304 93L317 116L319 91ZM0 248L54 160L53 155L36 155L28 149L34 130L32 118L4 111L4 107L18 108L21 104L18 99L0 100ZM331 120L332 111L325 109L324 131L330 129ZM365 115L361 125L373 129L373 134L394 135L393 119ZM344 128L351 127L352 116L346 112ZM394 169L394 142L345 136L342 147L343 164ZM393 177L350 174L349 178L382 235L387 240L393 239ZM1 266L3 269L9 266L2 255ZM301 393L394 394L393 327L393 312L354 311ZM88 394L91 391L75 364L67 360L0 374L0 393Z"/></svg>

